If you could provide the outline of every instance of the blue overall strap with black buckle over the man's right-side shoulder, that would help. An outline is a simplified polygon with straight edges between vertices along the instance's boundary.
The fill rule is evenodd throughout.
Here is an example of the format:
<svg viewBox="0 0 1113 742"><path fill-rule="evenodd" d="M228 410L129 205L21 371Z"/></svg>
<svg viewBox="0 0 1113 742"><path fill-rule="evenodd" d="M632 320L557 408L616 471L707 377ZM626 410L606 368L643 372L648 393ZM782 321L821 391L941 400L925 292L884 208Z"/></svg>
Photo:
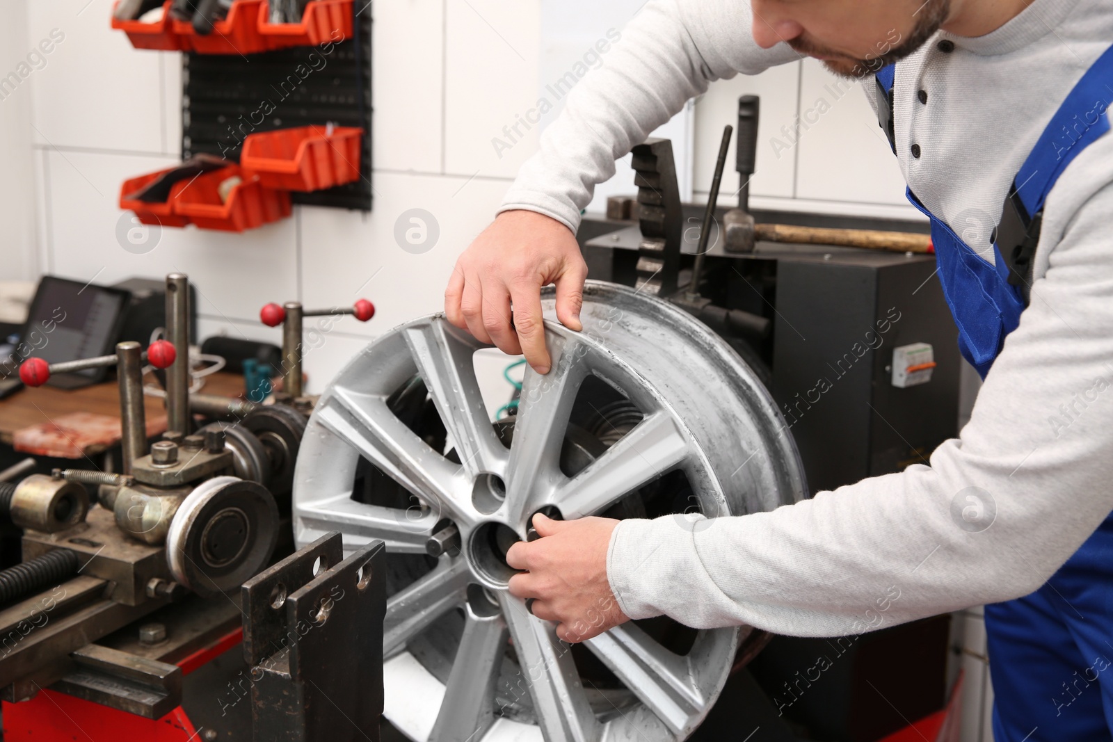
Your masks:
<svg viewBox="0 0 1113 742"><path fill-rule="evenodd" d="M1113 46L1074 86L1044 129L1005 197L993 241L1008 268L1008 283L1021 287L1027 303L1032 258L1040 243L1044 201L1058 176L1078 152L1110 129L1113 107Z"/></svg>

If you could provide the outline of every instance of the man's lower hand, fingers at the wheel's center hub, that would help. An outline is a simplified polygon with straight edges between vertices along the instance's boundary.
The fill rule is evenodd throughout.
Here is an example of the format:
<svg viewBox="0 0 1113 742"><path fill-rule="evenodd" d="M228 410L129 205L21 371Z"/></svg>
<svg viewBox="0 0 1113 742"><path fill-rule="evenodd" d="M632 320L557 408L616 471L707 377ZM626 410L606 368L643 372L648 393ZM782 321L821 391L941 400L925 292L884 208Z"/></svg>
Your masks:
<svg viewBox="0 0 1113 742"><path fill-rule="evenodd" d="M607 548L618 521L585 517L553 521L533 516L541 538L519 542L506 552L506 564L526 570L510 578L510 592L534 598L533 615L555 621L556 636L577 643L630 619L619 609L607 581Z"/></svg>

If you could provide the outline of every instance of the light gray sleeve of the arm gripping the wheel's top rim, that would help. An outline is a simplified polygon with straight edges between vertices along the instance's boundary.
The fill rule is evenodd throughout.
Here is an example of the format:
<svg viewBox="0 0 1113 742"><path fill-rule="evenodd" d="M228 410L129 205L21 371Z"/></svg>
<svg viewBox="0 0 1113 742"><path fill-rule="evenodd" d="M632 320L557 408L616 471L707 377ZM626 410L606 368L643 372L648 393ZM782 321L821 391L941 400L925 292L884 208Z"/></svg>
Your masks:
<svg viewBox="0 0 1113 742"><path fill-rule="evenodd" d="M519 172L501 211L529 209L572 231L614 160L718 78L756 75L797 59L784 44L764 50L737 0L651 0L621 31L603 67L569 95Z"/></svg>

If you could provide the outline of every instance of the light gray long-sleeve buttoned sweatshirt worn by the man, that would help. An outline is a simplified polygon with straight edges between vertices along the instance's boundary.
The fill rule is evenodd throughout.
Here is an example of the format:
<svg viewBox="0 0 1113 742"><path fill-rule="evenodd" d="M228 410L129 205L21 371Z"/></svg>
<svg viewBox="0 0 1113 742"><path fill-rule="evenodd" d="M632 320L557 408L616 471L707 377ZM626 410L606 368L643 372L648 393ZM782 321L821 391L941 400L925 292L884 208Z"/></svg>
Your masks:
<svg viewBox="0 0 1113 742"><path fill-rule="evenodd" d="M897 66L900 168L988 259L1017 169L1111 41L1113 0L1035 0L986 36L939 32ZM784 44L756 46L743 0L651 0L571 93L502 208L574 229L613 160L711 80L797 58ZM1091 145L1052 190L1031 306L969 423L929 464L710 527L624 521L608 553L611 587L634 619L840 635L1043 584L1113 508L1113 137ZM1113 570L1104 578L1113 588Z"/></svg>

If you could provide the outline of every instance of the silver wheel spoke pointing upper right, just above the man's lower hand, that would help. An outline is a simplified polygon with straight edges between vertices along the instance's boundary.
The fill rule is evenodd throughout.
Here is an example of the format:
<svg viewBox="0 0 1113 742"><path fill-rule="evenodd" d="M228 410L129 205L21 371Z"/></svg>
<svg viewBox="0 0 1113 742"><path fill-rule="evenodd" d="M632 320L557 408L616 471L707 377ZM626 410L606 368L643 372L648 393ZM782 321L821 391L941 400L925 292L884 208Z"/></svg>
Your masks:
<svg viewBox="0 0 1113 742"><path fill-rule="evenodd" d="M672 416L657 412L640 422L553 494L565 518L592 515L682 463L688 436Z"/></svg>

